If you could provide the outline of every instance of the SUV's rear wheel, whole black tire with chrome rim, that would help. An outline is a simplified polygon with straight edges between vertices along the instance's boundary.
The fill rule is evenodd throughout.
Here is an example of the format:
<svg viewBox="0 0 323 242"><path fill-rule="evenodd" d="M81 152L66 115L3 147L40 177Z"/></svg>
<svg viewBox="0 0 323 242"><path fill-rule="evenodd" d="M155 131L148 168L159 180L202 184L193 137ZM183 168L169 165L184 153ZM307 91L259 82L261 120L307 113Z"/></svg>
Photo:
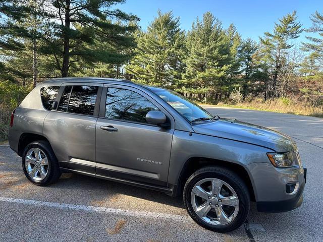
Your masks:
<svg viewBox="0 0 323 242"><path fill-rule="evenodd" d="M38 159L39 151L41 159ZM32 142L25 147L22 155L22 168L26 177L37 186L49 185L57 181L62 174L50 144L43 140Z"/></svg>

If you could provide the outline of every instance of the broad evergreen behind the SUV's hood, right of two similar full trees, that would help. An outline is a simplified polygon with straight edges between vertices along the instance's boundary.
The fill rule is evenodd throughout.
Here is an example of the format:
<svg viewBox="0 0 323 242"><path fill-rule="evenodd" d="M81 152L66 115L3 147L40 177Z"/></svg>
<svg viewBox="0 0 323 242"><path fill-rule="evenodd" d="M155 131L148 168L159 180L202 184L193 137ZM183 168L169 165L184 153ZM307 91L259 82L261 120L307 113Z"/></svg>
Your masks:
<svg viewBox="0 0 323 242"><path fill-rule="evenodd" d="M235 55L234 44L230 45L236 39L234 31L223 30L221 21L209 12L203 15L202 21L197 19L193 23L187 35L184 91L197 93L200 100L201 95L208 91L216 92L216 96L221 98L232 68L230 57Z"/></svg>

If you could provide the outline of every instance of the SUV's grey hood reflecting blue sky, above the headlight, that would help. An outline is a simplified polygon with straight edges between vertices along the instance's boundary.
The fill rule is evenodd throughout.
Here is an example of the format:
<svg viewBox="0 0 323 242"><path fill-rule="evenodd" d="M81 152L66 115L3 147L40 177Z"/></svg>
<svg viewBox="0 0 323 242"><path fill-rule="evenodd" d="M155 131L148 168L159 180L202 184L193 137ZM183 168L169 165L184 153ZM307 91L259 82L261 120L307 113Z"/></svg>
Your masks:
<svg viewBox="0 0 323 242"><path fill-rule="evenodd" d="M276 152L296 150L295 142L278 131L236 119L220 118L194 125L195 133L237 140L270 148Z"/></svg>

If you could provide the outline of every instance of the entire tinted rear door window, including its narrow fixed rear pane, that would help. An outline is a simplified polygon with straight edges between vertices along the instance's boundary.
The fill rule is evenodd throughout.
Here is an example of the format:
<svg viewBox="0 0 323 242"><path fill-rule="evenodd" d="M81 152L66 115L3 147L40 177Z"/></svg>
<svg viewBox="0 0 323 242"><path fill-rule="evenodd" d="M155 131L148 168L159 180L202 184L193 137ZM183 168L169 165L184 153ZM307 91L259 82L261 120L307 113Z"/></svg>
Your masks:
<svg viewBox="0 0 323 242"><path fill-rule="evenodd" d="M66 86L58 111L93 115L97 86Z"/></svg>

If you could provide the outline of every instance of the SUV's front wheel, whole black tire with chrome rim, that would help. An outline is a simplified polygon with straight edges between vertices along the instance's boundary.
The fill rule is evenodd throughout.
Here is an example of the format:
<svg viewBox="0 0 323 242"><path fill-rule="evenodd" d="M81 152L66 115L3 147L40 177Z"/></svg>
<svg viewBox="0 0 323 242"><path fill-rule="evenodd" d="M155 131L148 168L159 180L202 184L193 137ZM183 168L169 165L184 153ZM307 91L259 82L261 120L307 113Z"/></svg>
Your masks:
<svg viewBox="0 0 323 242"><path fill-rule="evenodd" d="M186 181L183 199L197 224L220 233L240 227L250 210L250 195L244 181L233 171L218 166L196 170Z"/></svg>

